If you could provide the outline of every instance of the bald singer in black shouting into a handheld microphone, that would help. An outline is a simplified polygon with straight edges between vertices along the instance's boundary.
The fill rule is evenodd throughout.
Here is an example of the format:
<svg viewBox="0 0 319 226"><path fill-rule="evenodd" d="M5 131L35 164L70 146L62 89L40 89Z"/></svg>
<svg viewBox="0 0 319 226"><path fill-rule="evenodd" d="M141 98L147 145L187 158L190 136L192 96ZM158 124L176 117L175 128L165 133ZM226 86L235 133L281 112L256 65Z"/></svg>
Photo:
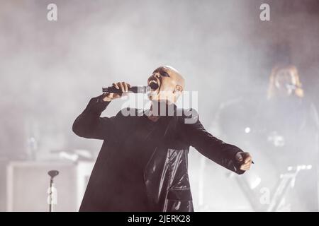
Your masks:
<svg viewBox="0 0 319 226"><path fill-rule="evenodd" d="M155 83L156 85L151 83ZM80 211L194 211L188 176L189 147L223 167L243 174L252 157L208 133L198 114L177 113L185 81L171 66L159 66L148 78L151 107L142 114L100 117L121 93L104 93L89 101L73 131L103 140ZM130 84L113 83L125 94ZM161 108L174 114L159 114ZM130 109L131 110L131 109ZM186 113L185 113L186 112ZM193 123L185 123L191 119Z"/></svg>

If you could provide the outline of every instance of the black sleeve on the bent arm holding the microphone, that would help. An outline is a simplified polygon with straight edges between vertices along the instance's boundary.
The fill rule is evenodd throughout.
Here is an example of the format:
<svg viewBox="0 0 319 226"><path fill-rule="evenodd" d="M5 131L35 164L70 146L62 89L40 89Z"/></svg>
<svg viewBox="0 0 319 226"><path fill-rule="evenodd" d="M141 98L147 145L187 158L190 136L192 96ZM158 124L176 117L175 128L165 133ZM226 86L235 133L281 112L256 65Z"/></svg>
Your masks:
<svg viewBox="0 0 319 226"><path fill-rule="evenodd" d="M91 98L82 114L75 119L72 130L77 136L104 140L111 136L116 117L100 117L110 102L104 102L102 95Z"/></svg>

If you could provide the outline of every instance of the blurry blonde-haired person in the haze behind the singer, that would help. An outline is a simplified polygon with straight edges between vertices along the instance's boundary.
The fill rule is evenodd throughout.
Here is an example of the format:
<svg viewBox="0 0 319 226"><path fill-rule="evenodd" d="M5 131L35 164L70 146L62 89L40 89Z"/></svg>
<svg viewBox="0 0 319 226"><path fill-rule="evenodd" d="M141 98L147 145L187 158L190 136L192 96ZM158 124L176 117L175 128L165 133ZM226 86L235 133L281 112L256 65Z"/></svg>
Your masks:
<svg viewBox="0 0 319 226"><path fill-rule="evenodd" d="M264 152L279 174L296 173L292 184L286 184L286 193L269 210L318 211L319 120L315 105L303 90L296 66L274 66L267 101L259 105L257 115Z"/></svg>

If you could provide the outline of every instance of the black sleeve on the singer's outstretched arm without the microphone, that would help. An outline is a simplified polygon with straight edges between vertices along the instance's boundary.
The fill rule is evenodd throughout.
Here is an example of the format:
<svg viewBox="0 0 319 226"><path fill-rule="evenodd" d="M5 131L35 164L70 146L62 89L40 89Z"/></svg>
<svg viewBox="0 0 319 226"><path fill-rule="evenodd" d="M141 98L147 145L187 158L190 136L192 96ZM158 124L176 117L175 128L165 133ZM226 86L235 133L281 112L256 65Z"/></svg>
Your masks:
<svg viewBox="0 0 319 226"><path fill-rule="evenodd" d="M194 109L190 109L188 112L191 114L187 113L189 116L183 117L184 121L181 121L181 124L189 144L210 160L237 174L243 174L245 171L239 168L239 162L235 160L236 153L242 150L208 133L199 121L198 113Z"/></svg>

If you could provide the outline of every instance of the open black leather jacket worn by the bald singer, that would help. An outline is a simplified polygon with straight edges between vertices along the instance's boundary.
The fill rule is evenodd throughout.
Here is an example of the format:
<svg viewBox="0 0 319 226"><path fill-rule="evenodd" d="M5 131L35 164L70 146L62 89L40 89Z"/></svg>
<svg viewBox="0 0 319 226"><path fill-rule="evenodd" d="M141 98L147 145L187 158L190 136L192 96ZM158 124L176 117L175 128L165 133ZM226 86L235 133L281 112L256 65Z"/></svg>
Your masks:
<svg viewBox="0 0 319 226"><path fill-rule="evenodd" d="M72 129L78 136L104 140L80 211L121 210L112 208L118 196L116 184L121 184L121 177L117 176L121 171L118 147L134 129L133 121L139 116L125 117L120 111L115 117L100 117L108 104L101 100L101 96L92 98L73 124ZM193 114L167 117L167 129L145 167L144 182L150 210L194 210L188 176L190 145L219 165L237 174L244 172L235 161L235 154L242 150L212 136L203 128L197 112L190 111ZM140 114L139 110L135 112ZM185 124L185 119L194 123Z"/></svg>

